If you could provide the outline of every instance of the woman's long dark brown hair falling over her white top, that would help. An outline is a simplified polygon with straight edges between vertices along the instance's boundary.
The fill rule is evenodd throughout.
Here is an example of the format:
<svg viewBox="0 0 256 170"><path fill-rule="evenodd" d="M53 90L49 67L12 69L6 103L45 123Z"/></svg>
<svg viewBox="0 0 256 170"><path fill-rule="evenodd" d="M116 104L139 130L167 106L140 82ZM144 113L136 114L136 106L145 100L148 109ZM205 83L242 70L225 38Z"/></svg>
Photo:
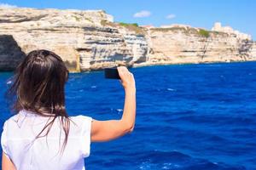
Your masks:
<svg viewBox="0 0 256 170"><path fill-rule="evenodd" d="M60 119L65 133L63 151L67 144L70 120L65 107L65 83L68 70L61 57L48 50L34 50L17 66L6 95L11 99L11 111L32 111L49 116L49 121L36 139L48 135L55 119ZM46 133L44 133L46 131Z"/></svg>

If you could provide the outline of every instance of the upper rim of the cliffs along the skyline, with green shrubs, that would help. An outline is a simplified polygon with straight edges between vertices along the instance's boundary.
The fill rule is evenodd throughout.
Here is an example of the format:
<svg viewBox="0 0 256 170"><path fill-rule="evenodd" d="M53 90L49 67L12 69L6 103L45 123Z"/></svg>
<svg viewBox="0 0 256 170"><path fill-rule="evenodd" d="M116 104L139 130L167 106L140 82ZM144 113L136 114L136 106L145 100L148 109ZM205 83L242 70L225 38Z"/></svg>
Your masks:
<svg viewBox="0 0 256 170"><path fill-rule="evenodd" d="M125 28L136 34L145 34L146 30L151 31L183 31L188 34L197 34L204 37L209 35L233 34L240 39L251 40L251 37L239 31L233 31L229 26L221 27L215 24L212 31L192 26L174 24L171 26L138 26L137 24L127 24L113 22L113 16L104 10L79 10L79 9L55 9L55 8L1 8L0 7L1 28L19 27L21 30L37 27L38 29L50 29L60 26L107 26L114 28Z"/></svg>

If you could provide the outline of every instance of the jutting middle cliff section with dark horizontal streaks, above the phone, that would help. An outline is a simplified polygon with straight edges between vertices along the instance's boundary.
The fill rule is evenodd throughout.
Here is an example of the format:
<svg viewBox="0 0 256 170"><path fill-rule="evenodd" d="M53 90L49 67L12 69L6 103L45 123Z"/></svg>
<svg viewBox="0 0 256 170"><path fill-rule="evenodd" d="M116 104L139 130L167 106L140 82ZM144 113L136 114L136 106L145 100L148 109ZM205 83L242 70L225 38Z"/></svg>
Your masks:
<svg viewBox="0 0 256 170"><path fill-rule="evenodd" d="M79 42L76 49L79 52L82 71L143 62L148 51L145 37L124 28L85 28L81 41L83 42Z"/></svg>

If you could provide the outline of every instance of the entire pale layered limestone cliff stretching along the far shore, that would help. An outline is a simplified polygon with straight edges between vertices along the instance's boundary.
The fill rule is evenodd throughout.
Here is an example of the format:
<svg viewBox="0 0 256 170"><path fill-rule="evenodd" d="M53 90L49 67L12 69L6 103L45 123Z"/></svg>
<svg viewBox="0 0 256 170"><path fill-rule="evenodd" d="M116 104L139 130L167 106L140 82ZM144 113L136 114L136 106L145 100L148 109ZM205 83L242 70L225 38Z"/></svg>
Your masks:
<svg viewBox="0 0 256 170"><path fill-rule="evenodd" d="M25 54L39 48L61 55L70 71L256 60L255 43L235 34L206 35L177 26L144 29L114 23L102 10L0 8L0 70L13 70Z"/></svg>

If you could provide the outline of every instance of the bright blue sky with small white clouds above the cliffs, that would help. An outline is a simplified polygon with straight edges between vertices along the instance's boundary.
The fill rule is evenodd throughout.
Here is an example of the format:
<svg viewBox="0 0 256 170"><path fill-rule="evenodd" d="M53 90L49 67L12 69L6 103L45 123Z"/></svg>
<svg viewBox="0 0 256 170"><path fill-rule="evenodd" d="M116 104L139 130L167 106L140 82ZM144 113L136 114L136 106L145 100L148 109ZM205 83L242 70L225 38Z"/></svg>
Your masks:
<svg viewBox="0 0 256 170"><path fill-rule="evenodd" d="M141 26L183 24L211 30L218 21L256 39L256 0L0 0L0 6L103 9L114 21Z"/></svg>

